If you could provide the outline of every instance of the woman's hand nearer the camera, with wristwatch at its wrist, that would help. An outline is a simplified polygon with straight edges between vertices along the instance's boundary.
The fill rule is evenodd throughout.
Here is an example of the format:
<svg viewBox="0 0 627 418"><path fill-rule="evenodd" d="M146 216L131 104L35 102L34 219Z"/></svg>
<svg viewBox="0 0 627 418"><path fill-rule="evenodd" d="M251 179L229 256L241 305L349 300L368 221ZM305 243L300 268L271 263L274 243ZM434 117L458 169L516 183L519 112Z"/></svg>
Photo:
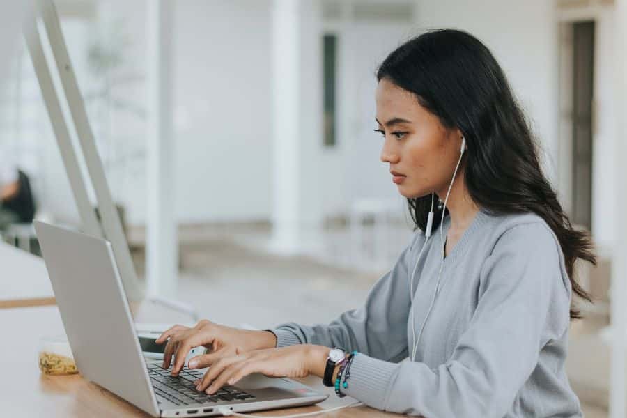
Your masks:
<svg viewBox="0 0 627 418"><path fill-rule="evenodd" d="M221 357L215 362L199 366L210 368L203 378L196 381L196 389L214 394L222 386L235 385L251 373L263 373L276 378L304 378L310 373L322 377L329 350L324 346L298 344Z"/></svg>

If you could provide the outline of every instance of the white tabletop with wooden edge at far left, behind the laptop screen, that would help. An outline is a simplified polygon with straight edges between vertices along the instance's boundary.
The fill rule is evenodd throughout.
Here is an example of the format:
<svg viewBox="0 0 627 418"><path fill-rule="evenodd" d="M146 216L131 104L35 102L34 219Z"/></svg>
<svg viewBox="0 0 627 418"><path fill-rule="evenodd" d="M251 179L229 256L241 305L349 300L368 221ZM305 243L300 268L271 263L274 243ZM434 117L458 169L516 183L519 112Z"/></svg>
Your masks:
<svg viewBox="0 0 627 418"><path fill-rule="evenodd" d="M0 241L0 309L55 303L43 258Z"/></svg>

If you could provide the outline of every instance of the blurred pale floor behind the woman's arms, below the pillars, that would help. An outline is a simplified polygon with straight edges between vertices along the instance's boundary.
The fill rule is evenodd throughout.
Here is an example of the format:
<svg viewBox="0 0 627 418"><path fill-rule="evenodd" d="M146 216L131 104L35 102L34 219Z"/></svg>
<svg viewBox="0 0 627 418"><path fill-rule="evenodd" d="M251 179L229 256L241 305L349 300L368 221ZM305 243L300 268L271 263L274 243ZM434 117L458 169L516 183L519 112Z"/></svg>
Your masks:
<svg viewBox="0 0 627 418"><path fill-rule="evenodd" d="M263 228L194 231L194 239L180 247L178 299L194 307L201 318L235 326L328 323L362 303L372 284L394 263L391 258L379 270L341 267L350 265L341 256L342 249L350 247L346 231L327 234L332 245L310 257L268 254L263 247L269 235ZM398 253L408 242L407 236L407 230L398 231L401 238L394 243ZM134 255L141 272L141 250ZM367 260L368 254L363 258ZM185 320L182 316L181 321ZM585 416L607 417L602 405L598 396L595 403L582 403Z"/></svg>

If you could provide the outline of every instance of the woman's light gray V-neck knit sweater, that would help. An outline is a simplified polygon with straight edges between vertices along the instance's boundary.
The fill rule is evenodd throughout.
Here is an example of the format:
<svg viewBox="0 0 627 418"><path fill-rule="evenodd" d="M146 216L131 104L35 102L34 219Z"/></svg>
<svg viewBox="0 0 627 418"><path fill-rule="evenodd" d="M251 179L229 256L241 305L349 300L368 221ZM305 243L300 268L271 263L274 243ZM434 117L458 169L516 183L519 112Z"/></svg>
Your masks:
<svg viewBox="0 0 627 418"><path fill-rule="evenodd" d="M444 219L446 237L450 219ZM424 417L581 417L564 362L571 283L555 234L535 214L481 209L444 258L440 293L419 339L440 268L440 230L420 260L412 238L358 309L328 325L284 323L277 346L298 343L357 350L348 388L373 408Z"/></svg>

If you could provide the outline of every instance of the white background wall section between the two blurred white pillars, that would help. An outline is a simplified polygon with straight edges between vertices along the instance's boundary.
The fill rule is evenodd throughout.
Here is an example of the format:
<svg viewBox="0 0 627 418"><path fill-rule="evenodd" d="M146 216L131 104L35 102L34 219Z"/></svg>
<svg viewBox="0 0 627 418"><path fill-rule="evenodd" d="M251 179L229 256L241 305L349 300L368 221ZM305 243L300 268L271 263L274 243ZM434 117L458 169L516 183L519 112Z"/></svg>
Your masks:
<svg viewBox="0 0 627 418"><path fill-rule="evenodd" d="M179 222L270 217L270 4L176 2Z"/></svg>

